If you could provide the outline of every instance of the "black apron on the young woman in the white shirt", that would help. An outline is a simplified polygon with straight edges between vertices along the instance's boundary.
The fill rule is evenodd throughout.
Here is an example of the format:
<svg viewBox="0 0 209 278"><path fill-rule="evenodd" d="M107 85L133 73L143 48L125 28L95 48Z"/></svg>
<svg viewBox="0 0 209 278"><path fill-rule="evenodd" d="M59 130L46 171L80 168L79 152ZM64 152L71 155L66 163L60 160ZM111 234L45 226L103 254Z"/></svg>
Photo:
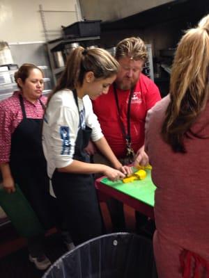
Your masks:
<svg viewBox="0 0 209 278"><path fill-rule="evenodd" d="M73 91L78 107L77 92ZM79 113L80 118L80 113ZM89 163L89 156L84 152L91 138L91 128L82 129L79 119L79 131L75 142L73 159ZM72 241L75 245L102 234L102 217L96 194L93 175L73 174L54 171L52 186L59 205L65 215Z"/></svg>

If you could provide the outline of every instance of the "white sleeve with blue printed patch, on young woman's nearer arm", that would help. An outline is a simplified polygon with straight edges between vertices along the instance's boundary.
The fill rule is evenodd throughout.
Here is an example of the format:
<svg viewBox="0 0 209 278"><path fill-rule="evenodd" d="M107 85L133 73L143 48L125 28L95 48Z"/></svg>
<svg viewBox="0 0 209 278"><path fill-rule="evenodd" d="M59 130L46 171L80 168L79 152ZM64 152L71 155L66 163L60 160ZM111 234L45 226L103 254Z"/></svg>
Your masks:
<svg viewBox="0 0 209 278"><path fill-rule="evenodd" d="M51 129L52 157L55 167L65 167L72 163L75 153L75 141L79 126L77 112L61 106L53 113Z"/></svg>

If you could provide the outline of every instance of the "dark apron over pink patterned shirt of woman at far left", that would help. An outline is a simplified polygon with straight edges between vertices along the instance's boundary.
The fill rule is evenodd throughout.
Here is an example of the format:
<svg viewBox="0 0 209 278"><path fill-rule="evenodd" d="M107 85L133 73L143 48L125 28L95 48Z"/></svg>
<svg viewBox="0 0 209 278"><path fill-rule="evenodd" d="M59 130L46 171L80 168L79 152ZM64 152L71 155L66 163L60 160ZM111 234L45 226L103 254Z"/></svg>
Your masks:
<svg viewBox="0 0 209 278"><path fill-rule="evenodd" d="M44 106L41 101L40 104ZM15 183L20 186L40 222L49 229L54 223L50 211L52 197L49 195L47 165L42 151L42 119L26 117L22 95L20 105L23 119L12 135L10 169Z"/></svg>

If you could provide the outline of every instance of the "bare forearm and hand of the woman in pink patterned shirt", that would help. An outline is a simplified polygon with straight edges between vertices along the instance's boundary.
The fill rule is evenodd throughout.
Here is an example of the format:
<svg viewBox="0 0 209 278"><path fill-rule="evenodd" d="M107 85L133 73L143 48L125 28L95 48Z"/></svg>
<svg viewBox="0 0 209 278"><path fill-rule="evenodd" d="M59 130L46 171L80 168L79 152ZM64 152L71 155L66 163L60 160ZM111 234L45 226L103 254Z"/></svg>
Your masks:
<svg viewBox="0 0 209 278"><path fill-rule="evenodd" d="M8 193L15 192L15 181L14 181L12 173L10 171L9 163L1 163L0 168L1 168L1 174L3 177L3 188Z"/></svg>

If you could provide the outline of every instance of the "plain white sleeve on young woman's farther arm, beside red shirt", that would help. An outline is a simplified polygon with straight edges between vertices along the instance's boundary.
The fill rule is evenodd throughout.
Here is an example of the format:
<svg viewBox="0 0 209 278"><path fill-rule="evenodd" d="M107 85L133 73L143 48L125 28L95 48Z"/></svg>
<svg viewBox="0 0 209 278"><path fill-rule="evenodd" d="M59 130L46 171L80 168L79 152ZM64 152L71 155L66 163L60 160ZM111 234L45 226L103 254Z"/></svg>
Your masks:
<svg viewBox="0 0 209 278"><path fill-rule="evenodd" d="M98 117L93 113L93 107L91 103L91 99L89 97L85 98L85 111L86 111L86 125L91 127L91 139L93 142L100 140L104 135L102 133L102 129L100 127L100 123L98 121Z"/></svg>

